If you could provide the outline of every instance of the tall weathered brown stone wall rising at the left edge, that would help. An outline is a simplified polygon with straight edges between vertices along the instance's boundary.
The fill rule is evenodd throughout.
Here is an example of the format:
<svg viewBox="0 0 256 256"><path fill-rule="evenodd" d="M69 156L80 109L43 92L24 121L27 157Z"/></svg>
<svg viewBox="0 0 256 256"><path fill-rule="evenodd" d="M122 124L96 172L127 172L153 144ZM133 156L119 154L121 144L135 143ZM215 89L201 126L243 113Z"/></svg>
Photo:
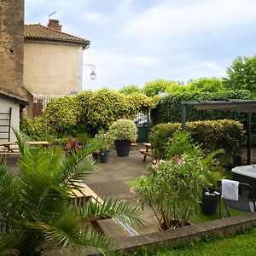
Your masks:
<svg viewBox="0 0 256 256"><path fill-rule="evenodd" d="M0 88L26 98L32 94L23 87L24 0L0 0Z"/></svg>

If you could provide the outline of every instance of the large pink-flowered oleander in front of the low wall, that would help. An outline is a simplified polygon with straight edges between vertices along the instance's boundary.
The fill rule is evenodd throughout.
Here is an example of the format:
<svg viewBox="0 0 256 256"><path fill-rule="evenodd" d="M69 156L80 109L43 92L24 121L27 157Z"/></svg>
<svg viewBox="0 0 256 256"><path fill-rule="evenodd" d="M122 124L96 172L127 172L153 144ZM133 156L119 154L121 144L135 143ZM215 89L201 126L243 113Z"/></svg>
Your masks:
<svg viewBox="0 0 256 256"><path fill-rule="evenodd" d="M201 202L201 191L207 187L207 172L201 157L183 154L160 160L149 166L147 177L140 177L135 186L142 204L148 204L159 221L160 229L177 228L189 223Z"/></svg>

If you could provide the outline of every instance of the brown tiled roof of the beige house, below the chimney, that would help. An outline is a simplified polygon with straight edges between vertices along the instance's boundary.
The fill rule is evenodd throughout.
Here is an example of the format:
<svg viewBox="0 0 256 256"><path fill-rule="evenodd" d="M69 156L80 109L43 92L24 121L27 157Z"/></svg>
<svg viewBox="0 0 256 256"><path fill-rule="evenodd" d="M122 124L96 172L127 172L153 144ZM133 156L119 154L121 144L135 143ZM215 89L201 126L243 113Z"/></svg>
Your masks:
<svg viewBox="0 0 256 256"><path fill-rule="evenodd" d="M84 38L56 31L41 24L30 24L24 26L24 37L33 39L43 39L47 41L57 41L65 43L82 44L84 48L90 45L90 41Z"/></svg>

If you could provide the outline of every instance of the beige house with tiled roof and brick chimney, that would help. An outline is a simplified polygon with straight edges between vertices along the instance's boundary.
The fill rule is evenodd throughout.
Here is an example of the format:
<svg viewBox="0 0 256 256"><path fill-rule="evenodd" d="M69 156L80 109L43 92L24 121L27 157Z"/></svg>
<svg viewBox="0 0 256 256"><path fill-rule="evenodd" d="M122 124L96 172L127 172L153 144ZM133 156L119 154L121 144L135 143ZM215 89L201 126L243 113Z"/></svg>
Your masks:
<svg viewBox="0 0 256 256"><path fill-rule="evenodd" d="M83 50L90 41L48 26L25 25L24 86L35 97L76 95L82 90Z"/></svg>

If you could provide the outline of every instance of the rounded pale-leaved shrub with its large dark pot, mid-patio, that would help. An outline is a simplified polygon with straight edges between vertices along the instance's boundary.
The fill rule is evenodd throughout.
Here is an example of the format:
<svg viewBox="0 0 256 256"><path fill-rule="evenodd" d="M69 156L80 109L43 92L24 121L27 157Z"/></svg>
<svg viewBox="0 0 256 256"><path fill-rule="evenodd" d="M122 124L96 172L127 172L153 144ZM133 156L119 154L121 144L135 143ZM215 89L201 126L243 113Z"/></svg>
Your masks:
<svg viewBox="0 0 256 256"><path fill-rule="evenodd" d="M114 137L114 145L118 156L128 156L131 142L137 139L137 127L132 120L119 119L109 128Z"/></svg>

